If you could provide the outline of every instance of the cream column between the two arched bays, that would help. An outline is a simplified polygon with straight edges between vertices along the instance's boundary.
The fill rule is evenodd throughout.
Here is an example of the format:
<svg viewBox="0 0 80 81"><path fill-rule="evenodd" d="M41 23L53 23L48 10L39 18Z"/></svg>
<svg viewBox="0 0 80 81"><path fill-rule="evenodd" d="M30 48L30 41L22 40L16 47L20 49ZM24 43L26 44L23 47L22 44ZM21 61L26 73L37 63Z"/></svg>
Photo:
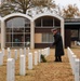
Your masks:
<svg viewBox="0 0 80 81"><path fill-rule="evenodd" d="M35 49L35 23L30 22L30 49Z"/></svg>

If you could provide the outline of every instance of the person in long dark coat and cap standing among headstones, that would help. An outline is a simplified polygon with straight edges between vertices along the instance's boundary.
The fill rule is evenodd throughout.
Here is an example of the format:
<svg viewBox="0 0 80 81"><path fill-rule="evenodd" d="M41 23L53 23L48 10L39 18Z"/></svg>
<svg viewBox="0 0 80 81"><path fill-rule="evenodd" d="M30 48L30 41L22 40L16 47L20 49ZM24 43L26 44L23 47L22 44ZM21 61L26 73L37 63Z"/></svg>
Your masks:
<svg viewBox="0 0 80 81"><path fill-rule="evenodd" d="M51 29L51 31L54 37L54 42L52 45L55 45L55 60L54 62L62 62L62 56L64 55L62 36L58 32L58 28Z"/></svg>

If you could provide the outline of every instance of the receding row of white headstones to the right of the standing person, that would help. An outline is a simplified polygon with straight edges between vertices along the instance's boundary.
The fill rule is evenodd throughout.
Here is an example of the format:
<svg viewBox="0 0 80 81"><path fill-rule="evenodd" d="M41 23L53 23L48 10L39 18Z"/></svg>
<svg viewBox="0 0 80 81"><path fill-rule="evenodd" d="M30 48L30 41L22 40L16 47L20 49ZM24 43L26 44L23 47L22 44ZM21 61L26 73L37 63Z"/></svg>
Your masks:
<svg viewBox="0 0 80 81"><path fill-rule="evenodd" d="M75 76L75 81L80 81L80 59L77 58L77 55L70 48L67 48L67 53L72 69L72 75Z"/></svg>

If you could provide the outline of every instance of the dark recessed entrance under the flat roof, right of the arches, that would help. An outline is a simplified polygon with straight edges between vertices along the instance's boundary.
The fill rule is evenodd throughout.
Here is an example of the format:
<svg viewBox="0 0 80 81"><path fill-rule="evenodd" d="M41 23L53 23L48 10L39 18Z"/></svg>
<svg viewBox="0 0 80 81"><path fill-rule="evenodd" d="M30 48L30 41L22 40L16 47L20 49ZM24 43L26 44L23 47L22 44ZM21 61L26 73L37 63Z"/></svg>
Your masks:
<svg viewBox="0 0 80 81"><path fill-rule="evenodd" d="M80 41L80 28L79 25L66 25L65 26L65 46L75 48L75 41Z"/></svg>

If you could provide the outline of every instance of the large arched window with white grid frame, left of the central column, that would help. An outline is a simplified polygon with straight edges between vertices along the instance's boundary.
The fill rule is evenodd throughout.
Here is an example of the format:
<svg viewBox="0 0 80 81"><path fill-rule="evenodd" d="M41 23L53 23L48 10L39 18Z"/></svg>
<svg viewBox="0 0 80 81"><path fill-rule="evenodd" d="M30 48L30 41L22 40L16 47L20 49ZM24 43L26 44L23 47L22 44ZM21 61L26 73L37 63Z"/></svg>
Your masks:
<svg viewBox="0 0 80 81"><path fill-rule="evenodd" d="M24 17L13 17L5 21L6 46L30 45L30 21ZM28 42L28 43L27 43Z"/></svg>

